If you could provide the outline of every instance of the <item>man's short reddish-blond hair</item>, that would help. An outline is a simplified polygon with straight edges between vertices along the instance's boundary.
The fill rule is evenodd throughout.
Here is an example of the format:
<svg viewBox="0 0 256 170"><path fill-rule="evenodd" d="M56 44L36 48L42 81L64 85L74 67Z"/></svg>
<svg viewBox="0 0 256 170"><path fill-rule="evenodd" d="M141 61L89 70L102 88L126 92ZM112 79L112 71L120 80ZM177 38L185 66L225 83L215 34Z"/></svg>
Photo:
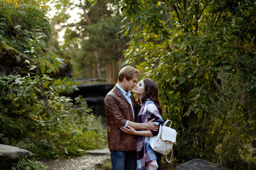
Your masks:
<svg viewBox="0 0 256 170"><path fill-rule="evenodd" d="M126 77L127 80L129 81L134 76L139 77L139 70L135 69L134 67L126 66L120 70L118 74L118 81L122 82L124 80L124 77Z"/></svg>

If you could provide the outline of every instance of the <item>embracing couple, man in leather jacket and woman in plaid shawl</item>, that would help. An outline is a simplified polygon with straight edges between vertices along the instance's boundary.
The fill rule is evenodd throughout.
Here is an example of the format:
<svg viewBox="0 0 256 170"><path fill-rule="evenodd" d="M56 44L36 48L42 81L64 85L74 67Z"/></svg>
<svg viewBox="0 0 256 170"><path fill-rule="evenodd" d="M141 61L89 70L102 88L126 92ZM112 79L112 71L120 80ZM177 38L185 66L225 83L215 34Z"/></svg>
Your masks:
<svg viewBox="0 0 256 170"><path fill-rule="evenodd" d="M161 154L149 145L149 137L157 135L162 109L156 83L139 81L139 71L123 67L118 83L105 97L107 138L113 170L161 169ZM137 94L135 101L131 91Z"/></svg>

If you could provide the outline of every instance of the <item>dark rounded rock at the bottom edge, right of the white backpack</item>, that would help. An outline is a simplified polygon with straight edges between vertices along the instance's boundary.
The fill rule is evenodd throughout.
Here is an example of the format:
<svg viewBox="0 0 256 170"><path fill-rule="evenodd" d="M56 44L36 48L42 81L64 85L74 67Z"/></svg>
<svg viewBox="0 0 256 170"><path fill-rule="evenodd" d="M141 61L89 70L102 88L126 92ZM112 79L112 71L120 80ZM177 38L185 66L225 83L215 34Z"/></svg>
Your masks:
<svg viewBox="0 0 256 170"><path fill-rule="evenodd" d="M204 159L192 159L183 164L179 164L175 170L220 170L220 166L208 162Z"/></svg>

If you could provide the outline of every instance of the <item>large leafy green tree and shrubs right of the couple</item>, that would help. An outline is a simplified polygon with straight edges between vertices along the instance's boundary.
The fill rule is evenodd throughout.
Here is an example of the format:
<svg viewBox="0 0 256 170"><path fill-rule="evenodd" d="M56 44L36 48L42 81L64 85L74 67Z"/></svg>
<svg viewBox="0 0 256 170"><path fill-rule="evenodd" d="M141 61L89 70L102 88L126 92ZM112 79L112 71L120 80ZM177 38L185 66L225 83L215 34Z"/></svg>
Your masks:
<svg viewBox="0 0 256 170"><path fill-rule="evenodd" d="M124 64L136 66L142 77L158 84L164 117L178 130L178 161L201 157L218 162L225 153L236 162L247 152L242 145L255 139L256 113L249 105L255 98L256 27L247 26L255 23L255 2L114 1L114 5L124 16L119 33L130 38ZM218 86L224 81L222 69L230 75L226 89ZM251 94L246 103L237 98L249 96L245 89ZM211 108L219 98L225 98L220 105L225 111Z"/></svg>

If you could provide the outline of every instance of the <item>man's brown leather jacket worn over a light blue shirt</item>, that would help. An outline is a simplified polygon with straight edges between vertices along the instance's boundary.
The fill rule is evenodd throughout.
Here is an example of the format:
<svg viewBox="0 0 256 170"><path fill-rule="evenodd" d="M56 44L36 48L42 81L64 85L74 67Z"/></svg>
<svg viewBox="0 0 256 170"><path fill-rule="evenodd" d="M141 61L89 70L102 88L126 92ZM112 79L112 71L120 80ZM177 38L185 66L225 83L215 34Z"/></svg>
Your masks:
<svg viewBox="0 0 256 170"><path fill-rule="evenodd" d="M131 96L134 114L137 107ZM107 117L107 140L110 151L136 151L136 137L128 135L120 128L127 120L133 121L132 107L117 86L107 94L104 100Z"/></svg>

